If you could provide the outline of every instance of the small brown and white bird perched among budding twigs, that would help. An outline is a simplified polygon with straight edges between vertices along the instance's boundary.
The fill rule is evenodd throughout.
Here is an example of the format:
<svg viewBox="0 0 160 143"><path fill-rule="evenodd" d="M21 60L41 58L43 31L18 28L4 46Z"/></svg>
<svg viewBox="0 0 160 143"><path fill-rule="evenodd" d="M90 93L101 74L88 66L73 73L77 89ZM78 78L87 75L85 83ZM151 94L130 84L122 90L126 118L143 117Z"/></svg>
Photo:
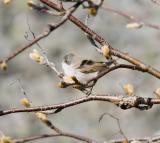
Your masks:
<svg viewBox="0 0 160 143"><path fill-rule="evenodd" d="M99 72L108 68L113 62L96 62L69 53L64 56L62 69L66 76L75 76L76 79L85 84L89 79L94 78Z"/></svg>

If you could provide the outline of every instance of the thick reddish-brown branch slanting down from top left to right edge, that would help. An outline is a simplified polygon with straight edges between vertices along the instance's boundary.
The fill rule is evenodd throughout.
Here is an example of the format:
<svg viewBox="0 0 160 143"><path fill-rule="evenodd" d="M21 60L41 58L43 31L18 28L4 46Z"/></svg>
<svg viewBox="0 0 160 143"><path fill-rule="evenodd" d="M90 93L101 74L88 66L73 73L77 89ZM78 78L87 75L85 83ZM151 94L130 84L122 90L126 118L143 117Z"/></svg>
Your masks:
<svg viewBox="0 0 160 143"><path fill-rule="evenodd" d="M51 2L50 0L40 0L40 1L42 3L48 5L49 7L53 8L54 10L62 11L62 9L59 8L57 4ZM144 64L143 62L141 62L140 60L138 60L136 58L131 57L129 54L123 53L123 52L119 51L118 49L115 49L115 48L111 47L111 45L107 41L105 41L104 38L102 38L97 33L92 31L89 27L87 27L83 22L78 20L73 15L70 15L68 18L71 22L73 22L77 27L79 27L82 31L87 33L90 37L92 37L98 43L100 43L101 45L107 45L110 48L110 54L111 55L119 57L121 59L124 59L124 60L138 66L139 69L141 69L142 71L146 71L147 73L149 73L149 74L153 75L154 77L157 77L157 78L160 79L160 71L152 68L149 65Z"/></svg>

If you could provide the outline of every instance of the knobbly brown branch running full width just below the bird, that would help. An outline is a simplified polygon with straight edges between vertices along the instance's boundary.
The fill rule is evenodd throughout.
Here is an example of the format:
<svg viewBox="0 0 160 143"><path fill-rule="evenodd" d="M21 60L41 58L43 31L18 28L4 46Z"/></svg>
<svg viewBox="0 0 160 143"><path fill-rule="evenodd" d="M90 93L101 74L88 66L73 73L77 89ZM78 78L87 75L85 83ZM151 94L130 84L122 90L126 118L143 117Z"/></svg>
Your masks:
<svg viewBox="0 0 160 143"><path fill-rule="evenodd" d="M78 104L82 104L89 101L105 101L115 104L123 110L130 108L137 108L140 110L148 110L155 104L160 104L159 98L143 98L138 96L122 96L122 95L97 95L97 96L87 96L80 99L68 101L65 103L55 104L51 106L40 106L33 107L27 109L9 109L9 110L1 110L0 116L12 114L12 113L20 113L20 112L38 112L38 111L47 111L47 110L55 110L54 113L58 113L65 108L76 106Z"/></svg>

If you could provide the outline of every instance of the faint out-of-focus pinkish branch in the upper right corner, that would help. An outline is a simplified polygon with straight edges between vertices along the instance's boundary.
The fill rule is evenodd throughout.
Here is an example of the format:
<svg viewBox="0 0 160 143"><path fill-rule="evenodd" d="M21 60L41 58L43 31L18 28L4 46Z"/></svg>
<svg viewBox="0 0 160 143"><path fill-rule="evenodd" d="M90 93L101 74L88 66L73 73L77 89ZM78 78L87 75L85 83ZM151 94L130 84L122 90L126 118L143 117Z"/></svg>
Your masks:
<svg viewBox="0 0 160 143"><path fill-rule="evenodd" d="M154 29L157 29L157 30L160 30L160 25L156 25L156 24L151 24L151 23L147 23L147 22L144 22L142 21L141 19L138 19L132 15L129 15L127 14L126 12L122 12L120 10L117 10L117 9L113 9L111 7L107 7L107 6L102 6L101 7L103 10L107 10L107 11L110 11L112 13L116 13L117 15L120 15L126 19L129 20L129 22L136 22L139 24L140 27L142 26L146 26L146 27L150 27L150 28L154 28Z"/></svg>

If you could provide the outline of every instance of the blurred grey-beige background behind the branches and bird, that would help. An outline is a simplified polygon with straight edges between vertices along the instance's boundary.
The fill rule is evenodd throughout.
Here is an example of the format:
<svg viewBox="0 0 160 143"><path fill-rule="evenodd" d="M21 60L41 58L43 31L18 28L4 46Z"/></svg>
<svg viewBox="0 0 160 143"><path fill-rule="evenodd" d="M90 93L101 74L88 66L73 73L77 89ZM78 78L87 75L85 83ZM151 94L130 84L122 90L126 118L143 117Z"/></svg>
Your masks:
<svg viewBox="0 0 160 143"><path fill-rule="evenodd" d="M38 2L38 1L37 1ZM124 11L142 19L144 22L160 25L160 6L150 0L107 0L104 6ZM83 22L87 10L80 7L74 13ZM0 59L12 54L16 49L33 39L29 27L35 35L43 32L48 23L59 18L31 10L26 1L13 0L9 5L0 2ZM160 31L148 27L127 29L128 21L109 11L100 9L96 17L89 19L89 27L103 36L114 48L129 53L131 56L160 69ZM69 52L94 60L105 60L95 47L87 40L84 33L71 22L52 32L39 44L61 71L62 57ZM20 100L24 97L17 79L20 79L24 90L33 106L53 105L67 102L85 96L72 89L58 88L59 78L51 69L39 65L29 58L29 53L38 49L36 45L27 49L9 62L9 69L0 71L0 110L24 108ZM96 84L93 93L115 94L124 93L122 86L131 83L136 95L154 97L153 91L160 87L159 79L132 70L116 70L109 73ZM128 138L143 138L160 135L160 110L154 106L149 111L137 109L121 110L107 102L88 102L70 107L62 112L49 115L49 119L64 131L93 138L97 141L107 141L121 138L116 120L105 116L99 123L103 113L110 113L120 121L121 128ZM44 124L38 121L32 113L17 113L0 117L0 130L5 135L23 138L43 133L51 133ZM35 142L79 142L69 138L50 138Z"/></svg>

